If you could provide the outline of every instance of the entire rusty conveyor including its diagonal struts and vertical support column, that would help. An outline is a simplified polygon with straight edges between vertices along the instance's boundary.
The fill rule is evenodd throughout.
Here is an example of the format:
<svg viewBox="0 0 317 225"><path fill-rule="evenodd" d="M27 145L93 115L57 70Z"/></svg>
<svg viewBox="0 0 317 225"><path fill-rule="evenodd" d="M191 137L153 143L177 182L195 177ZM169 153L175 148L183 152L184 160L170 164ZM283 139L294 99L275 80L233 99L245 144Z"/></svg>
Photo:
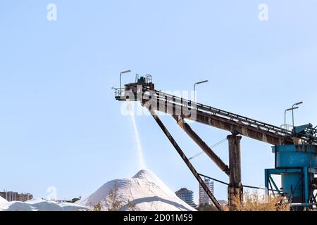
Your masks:
<svg viewBox="0 0 317 225"><path fill-rule="evenodd" d="M150 75L147 75L150 76ZM159 117L154 111L163 112L171 115L186 134L209 156L213 162L227 174L230 178L228 186L228 202L231 210L235 210L235 202L242 201L241 184L241 153L240 140L242 136L247 136L257 141L263 141L271 145L292 145L299 143L317 144L316 127L309 127L309 132L294 134L293 131L282 129L271 124L252 120L249 117L230 113L225 110L213 108L209 105L195 103L194 101L166 94L154 89L151 77L136 78L135 83L125 84L124 89L116 89L116 99L118 101L139 101L142 106L147 108L154 120L159 124L162 131L174 148L178 151L187 167L192 171L199 184L201 177L189 162L186 155L180 149L173 136L170 135ZM193 120L211 127L230 131L232 135L228 136L229 143L229 166L223 162L216 153L196 134L187 124L186 120ZM311 125L312 126L312 125ZM206 188L201 184L203 188ZM205 190L218 210L221 210L219 203L209 190Z"/></svg>

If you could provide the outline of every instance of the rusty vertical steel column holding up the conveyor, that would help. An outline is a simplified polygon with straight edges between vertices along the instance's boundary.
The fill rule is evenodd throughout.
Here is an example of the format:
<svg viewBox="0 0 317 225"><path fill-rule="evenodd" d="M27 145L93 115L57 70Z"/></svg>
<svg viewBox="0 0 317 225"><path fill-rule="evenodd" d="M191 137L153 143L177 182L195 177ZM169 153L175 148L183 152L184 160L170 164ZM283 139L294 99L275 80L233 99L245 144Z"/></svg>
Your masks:
<svg viewBox="0 0 317 225"><path fill-rule="evenodd" d="M229 135L229 167L230 182L228 186L228 203L231 211L238 209L243 202L243 188L241 182L241 136Z"/></svg>

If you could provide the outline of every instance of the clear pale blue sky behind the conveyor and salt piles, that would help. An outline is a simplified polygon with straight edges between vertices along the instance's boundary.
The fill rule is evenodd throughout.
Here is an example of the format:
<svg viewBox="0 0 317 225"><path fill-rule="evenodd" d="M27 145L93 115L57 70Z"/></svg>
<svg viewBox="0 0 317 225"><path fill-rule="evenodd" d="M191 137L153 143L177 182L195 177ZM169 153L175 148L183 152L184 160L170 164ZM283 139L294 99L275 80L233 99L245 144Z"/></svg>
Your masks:
<svg viewBox="0 0 317 225"><path fill-rule="evenodd" d="M46 6L57 6L57 21ZM268 4L266 22L258 19ZM130 69L157 89L191 90L201 103L280 126L317 124L317 1L0 1L0 189L58 199L88 195L138 168L130 118L111 86ZM133 80L125 75L123 82ZM290 123L290 115L288 117ZM199 148L163 117L190 156ZM149 169L174 191L198 184L151 117L137 117ZM192 124L212 145L228 132ZM215 151L228 162L228 145ZM242 180L264 184L271 146L242 139ZM227 180L206 156L199 172ZM216 198L227 188L216 184Z"/></svg>

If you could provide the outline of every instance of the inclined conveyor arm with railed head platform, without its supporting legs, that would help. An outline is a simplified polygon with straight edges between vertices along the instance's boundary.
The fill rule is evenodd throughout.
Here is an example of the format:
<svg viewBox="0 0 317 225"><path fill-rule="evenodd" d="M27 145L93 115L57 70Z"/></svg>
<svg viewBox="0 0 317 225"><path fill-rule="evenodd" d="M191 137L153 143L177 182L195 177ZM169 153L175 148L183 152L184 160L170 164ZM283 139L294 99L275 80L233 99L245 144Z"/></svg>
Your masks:
<svg viewBox="0 0 317 225"><path fill-rule="evenodd" d="M272 145L317 144L317 127L313 128L311 124L294 127L291 131L157 91L154 89L150 75L147 75L146 78L142 77L144 79L138 78L136 77L135 83L125 84L124 89L116 89L116 99L119 101L127 99L140 101L143 106L149 109L168 113L172 116L181 116L187 120L194 120L230 131L232 134L240 134Z"/></svg>

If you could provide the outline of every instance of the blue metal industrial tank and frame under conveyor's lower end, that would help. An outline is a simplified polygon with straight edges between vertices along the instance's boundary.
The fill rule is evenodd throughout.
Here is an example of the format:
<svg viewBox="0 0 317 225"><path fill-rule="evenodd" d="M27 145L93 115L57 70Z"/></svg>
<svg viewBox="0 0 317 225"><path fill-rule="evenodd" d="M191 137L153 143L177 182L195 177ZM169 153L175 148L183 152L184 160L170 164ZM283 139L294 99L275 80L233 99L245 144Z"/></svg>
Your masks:
<svg viewBox="0 0 317 225"><path fill-rule="evenodd" d="M317 146L275 146L275 169L265 170L266 190L285 196L293 210L304 210L316 202ZM280 175L281 187L272 175Z"/></svg>

